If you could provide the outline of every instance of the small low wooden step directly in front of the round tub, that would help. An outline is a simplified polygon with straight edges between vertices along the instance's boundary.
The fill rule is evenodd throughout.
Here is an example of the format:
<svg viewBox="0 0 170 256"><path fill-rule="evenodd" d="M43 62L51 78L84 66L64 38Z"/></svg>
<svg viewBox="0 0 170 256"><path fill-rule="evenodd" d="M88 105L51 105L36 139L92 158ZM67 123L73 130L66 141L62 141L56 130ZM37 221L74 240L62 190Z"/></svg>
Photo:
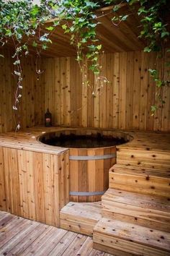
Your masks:
<svg viewBox="0 0 170 256"><path fill-rule="evenodd" d="M88 236L93 235L96 223L102 218L102 202L68 202L61 209L60 227Z"/></svg>

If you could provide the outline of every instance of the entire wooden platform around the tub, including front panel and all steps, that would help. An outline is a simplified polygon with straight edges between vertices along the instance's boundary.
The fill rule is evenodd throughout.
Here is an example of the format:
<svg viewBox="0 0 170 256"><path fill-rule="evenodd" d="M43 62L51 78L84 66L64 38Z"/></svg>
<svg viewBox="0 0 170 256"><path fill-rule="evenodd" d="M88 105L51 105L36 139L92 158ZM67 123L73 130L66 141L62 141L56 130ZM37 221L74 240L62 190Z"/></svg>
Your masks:
<svg viewBox="0 0 170 256"><path fill-rule="evenodd" d="M68 202L69 150L37 140L56 129L66 128L0 135L0 208L93 236L94 247L112 255L170 255L169 134L125 131L133 140L117 146L102 205L81 205Z"/></svg>

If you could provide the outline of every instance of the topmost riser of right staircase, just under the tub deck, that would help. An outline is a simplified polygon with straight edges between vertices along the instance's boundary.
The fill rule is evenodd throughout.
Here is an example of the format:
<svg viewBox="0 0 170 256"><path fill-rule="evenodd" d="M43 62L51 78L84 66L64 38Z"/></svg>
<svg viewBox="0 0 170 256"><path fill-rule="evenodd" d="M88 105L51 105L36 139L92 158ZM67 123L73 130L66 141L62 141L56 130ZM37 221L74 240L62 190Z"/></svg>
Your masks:
<svg viewBox="0 0 170 256"><path fill-rule="evenodd" d="M117 163L126 166L143 166L170 171L170 152L117 148Z"/></svg>

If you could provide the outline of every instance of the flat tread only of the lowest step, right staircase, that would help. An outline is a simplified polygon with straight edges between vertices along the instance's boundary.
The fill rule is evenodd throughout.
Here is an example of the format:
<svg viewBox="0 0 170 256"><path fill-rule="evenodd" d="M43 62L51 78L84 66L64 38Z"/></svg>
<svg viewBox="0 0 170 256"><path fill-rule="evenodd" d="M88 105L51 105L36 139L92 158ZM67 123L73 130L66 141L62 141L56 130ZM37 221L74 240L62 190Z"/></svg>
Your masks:
<svg viewBox="0 0 170 256"><path fill-rule="evenodd" d="M96 233L170 252L170 233L165 231L102 218L94 227L94 240Z"/></svg>

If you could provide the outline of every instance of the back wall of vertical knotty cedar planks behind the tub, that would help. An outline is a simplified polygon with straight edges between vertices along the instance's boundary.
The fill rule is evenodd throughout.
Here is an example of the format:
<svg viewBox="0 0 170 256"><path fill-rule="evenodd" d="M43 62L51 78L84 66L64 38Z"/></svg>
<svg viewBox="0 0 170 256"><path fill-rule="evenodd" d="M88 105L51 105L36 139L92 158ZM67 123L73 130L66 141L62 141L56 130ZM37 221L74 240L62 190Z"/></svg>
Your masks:
<svg viewBox="0 0 170 256"><path fill-rule="evenodd" d="M45 108L55 125L169 131L170 88L163 90L164 108L151 116L157 88L148 68L155 63L156 55L143 51L104 54L109 84L102 85L88 70L80 72L75 57L45 59Z"/></svg>

